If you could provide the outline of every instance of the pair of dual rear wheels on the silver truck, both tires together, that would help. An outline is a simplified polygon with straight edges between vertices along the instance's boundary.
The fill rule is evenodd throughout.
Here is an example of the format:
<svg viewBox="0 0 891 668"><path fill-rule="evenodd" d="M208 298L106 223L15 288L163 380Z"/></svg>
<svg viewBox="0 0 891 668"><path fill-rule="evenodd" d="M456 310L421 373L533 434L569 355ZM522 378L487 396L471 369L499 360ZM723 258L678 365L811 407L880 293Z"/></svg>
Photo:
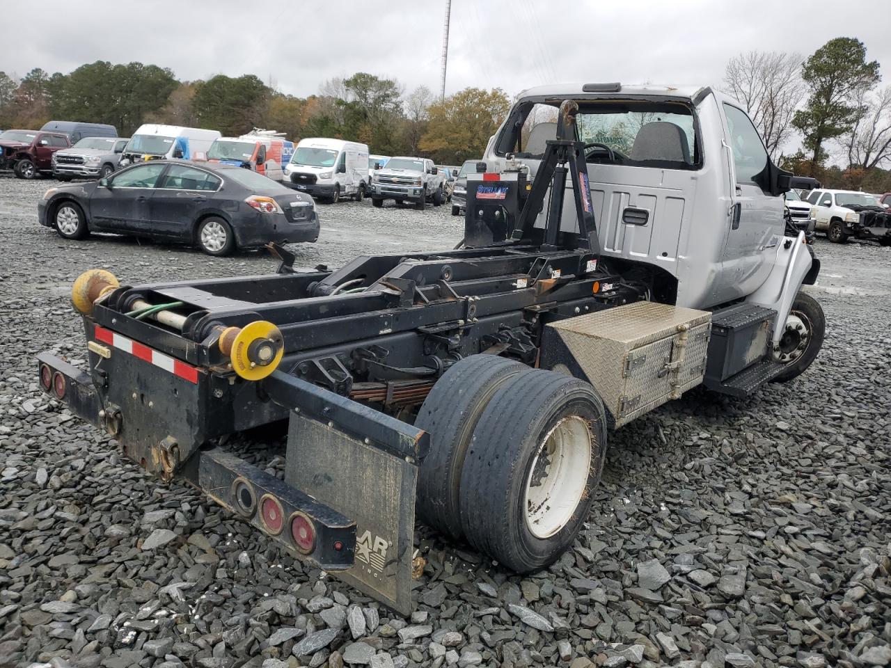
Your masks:
<svg viewBox="0 0 891 668"><path fill-rule="evenodd" d="M606 451L606 414L588 383L491 355L443 375L415 426L429 431L418 515L518 573L576 539Z"/></svg>

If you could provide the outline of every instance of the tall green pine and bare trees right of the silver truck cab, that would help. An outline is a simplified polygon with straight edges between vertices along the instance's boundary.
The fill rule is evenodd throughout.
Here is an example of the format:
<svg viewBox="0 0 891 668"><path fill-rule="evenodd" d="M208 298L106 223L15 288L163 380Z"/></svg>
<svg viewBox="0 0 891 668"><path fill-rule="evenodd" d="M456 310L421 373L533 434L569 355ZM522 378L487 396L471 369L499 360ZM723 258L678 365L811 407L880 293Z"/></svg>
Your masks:
<svg viewBox="0 0 891 668"><path fill-rule="evenodd" d="M742 53L727 63L724 90L748 107L772 159L824 187L891 191L891 86L854 37L836 37L808 58ZM803 148L783 155L789 141Z"/></svg>

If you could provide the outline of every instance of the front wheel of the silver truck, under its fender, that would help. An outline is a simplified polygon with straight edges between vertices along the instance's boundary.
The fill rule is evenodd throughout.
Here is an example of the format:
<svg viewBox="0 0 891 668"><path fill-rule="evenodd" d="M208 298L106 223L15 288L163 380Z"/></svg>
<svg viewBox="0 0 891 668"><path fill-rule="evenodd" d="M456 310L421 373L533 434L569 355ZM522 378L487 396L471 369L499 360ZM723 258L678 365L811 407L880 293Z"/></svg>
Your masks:
<svg viewBox="0 0 891 668"><path fill-rule="evenodd" d="M784 383L804 373L820 352L825 333L826 316L820 302L799 292L792 302L780 343L773 346L773 359L786 367L774 380Z"/></svg>

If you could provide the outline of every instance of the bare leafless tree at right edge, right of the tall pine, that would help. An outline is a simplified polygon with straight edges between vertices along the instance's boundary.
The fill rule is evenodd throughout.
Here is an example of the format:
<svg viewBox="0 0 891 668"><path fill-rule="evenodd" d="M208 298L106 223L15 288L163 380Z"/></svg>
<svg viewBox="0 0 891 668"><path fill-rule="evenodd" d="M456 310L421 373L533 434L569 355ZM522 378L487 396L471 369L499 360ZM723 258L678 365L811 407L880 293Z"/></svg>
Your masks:
<svg viewBox="0 0 891 668"><path fill-rule="evenodd" d="M855 101L857 115L850 132L841 137L848 167L871 169L891 159L891 86L863 89Z"/></svg>

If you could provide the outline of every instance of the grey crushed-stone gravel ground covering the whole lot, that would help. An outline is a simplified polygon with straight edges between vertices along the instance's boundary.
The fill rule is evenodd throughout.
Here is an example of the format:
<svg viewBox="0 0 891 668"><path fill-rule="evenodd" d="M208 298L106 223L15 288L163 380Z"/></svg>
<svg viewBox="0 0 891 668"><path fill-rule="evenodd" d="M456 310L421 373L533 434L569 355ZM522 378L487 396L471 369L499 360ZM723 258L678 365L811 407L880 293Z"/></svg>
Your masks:
<svg viewBox="0 0 891 668"><path fill-rule="evenodd" d="M811 370L747 402L693 391L619 430L583 534L547 572L419 527L429 564L401 618L151 480L38 391L37 352L85 354L78 273L275 266L61 240L37 224L46 187L0 179L0 666L891 664L891 248L818 240L829 325ZM447 208L320 211L303 265L460 238ZM250 437L281 473L281 437Z"/></svg>

